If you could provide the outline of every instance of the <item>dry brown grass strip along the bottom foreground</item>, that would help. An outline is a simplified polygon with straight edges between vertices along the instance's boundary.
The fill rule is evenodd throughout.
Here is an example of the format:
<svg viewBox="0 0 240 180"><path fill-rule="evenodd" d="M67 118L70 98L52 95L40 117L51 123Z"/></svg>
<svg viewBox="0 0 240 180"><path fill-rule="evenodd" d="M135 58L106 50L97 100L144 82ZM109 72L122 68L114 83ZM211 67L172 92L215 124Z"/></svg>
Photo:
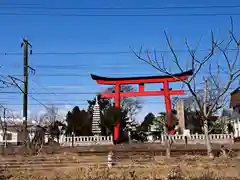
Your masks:
<svg viewBox="0 0 240 180"><path fill-rule="evenodd" d="M8 170L2 180L240 180L240 161L237 159L200 156L159 157L157 164L146 167L67 167L51 170Z"/></svg>

